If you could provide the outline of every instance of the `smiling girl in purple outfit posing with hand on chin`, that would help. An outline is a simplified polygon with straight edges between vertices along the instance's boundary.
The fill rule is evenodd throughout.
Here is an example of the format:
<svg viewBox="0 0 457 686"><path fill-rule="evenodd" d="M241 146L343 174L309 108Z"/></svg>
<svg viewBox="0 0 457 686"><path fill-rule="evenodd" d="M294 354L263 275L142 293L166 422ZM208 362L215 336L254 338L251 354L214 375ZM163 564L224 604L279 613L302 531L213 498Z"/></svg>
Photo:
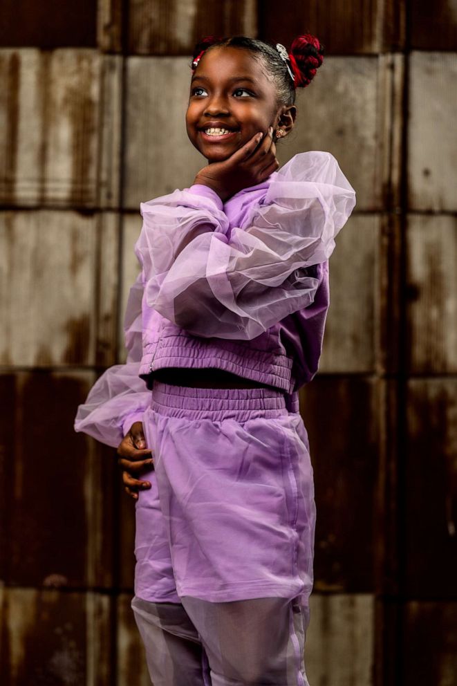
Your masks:
<svg viewBox="0 0 457 686"><path fill-rule="evenodd" d="M196 46L186 128L208 164L141 203L127 364L78 409L136 498L132 607L154 686L308 685L315 503L297 391L317 371L355 192L328 152L277 171L276 142L322 55L310 35L290 54Z"/></svg>

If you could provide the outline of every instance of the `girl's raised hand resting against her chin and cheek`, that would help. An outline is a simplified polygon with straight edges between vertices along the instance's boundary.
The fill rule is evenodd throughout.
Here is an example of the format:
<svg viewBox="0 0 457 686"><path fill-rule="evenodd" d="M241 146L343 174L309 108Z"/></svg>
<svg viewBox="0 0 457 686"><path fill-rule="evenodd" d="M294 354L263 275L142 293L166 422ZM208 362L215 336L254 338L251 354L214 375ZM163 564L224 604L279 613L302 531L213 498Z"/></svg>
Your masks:
<svg viewBox="0 0 457 686"><path fill-rule="evenodd" d="M269 127L262 139L260 132L256 133L223 162L214 162L200 169L194 183L209 186L224 203L243 188L261 183L278 167L273 127Z"/></svg>

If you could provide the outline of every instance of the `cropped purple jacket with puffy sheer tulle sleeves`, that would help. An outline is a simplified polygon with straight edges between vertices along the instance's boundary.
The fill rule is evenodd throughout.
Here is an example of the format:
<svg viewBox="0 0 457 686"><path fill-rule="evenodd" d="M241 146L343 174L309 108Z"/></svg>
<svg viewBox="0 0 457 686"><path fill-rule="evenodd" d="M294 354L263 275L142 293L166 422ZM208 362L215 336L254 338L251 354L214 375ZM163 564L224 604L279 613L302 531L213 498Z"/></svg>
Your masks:
<svg viewBox="0 0 457 686"><path fill-rule="evenodd" d="M116 447L164 367L224 369L281 389L298 411L321 354L328 258L354 207L354 189L323 151L295 155L226 203L200 184L140 203L127 363L95 382L76 431Z"/></svg>

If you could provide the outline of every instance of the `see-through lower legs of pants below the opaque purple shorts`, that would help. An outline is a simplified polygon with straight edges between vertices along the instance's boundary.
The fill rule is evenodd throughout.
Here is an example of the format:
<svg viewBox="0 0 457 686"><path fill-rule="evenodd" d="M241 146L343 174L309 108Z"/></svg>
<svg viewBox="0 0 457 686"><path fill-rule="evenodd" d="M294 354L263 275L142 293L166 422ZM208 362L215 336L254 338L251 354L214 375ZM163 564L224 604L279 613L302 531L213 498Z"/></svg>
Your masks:
<svg viewBox="0 0 457 686"><path fill-rule="evenodd" d="M134 597L154 686L309 686L308 608L284 598L154 603Z"/></svg>

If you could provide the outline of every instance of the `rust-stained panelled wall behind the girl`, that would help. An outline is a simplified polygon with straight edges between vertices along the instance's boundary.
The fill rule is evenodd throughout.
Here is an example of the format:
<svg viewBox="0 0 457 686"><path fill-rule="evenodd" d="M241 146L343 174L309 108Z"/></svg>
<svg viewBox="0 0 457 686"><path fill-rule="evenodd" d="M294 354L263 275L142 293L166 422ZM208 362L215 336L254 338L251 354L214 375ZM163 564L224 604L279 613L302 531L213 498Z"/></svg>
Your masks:
<svg viewBox="0 0 457 686"><path fill-rule="evenodd" d="M73 432L123 360L140 201L185 187L205 34L327 57L284 163L331 151L357 207L330 260L315 468L311 686L457 683L456 0L3 0L0 8L0 674L145 686L129 609L133 501Z"/></svg>

